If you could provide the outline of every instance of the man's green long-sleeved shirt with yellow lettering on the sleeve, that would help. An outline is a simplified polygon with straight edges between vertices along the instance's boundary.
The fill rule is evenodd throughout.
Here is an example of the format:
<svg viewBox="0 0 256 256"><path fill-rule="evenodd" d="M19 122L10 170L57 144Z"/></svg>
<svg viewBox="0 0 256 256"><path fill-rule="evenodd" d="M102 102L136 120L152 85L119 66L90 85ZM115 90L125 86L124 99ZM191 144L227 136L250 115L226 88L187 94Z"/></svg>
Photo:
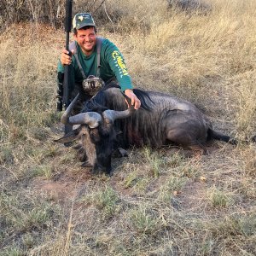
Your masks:
<svg viewBox="0 0 256 256"><path fill-rule="evenodd" d="M75 42L75 44L77 47L79 61L83 67L85 76L96 76L96 47L90 56L86 56L81 50L79 44L77 44L77 42ZM83 81L83 76L79 70L79 65L74 56L72 57L71 65L73 67L71 68L71 83L81 83ZM58 62L57 69L58 72L64 73L64 67L61 65L61 61ZM102 40L100 78L105 82L107 82L109 79L116 78L119 82L121 90L123 91L133 88L131 84L131 77L127 72L127 67L125 65L123 55L119 52L119 49L115 46L115 44L106 38L103 38Z"/></svg>

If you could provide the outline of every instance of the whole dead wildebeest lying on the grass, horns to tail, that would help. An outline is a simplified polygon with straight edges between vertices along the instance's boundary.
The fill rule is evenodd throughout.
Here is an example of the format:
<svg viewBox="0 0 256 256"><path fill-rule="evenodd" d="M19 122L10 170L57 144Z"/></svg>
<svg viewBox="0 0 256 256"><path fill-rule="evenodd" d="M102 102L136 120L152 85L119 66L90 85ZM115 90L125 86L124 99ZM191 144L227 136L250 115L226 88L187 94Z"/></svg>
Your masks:
<svg viewBox="0 0 256 256"><path fill-rule="evenodd" d="M67 143L80 140L80 160L96 170L102 167L111 172L113 149L149 145L160 148L173 143L201 153L210 139L236 143L234 139L212 129L211 122L194 104L177 97L154 91L134 90L142 107L127 108L119 88L101 90L82 113L69 116L70 104L61 117L63 124L76 125L76 129L57 140Z"/></svg>

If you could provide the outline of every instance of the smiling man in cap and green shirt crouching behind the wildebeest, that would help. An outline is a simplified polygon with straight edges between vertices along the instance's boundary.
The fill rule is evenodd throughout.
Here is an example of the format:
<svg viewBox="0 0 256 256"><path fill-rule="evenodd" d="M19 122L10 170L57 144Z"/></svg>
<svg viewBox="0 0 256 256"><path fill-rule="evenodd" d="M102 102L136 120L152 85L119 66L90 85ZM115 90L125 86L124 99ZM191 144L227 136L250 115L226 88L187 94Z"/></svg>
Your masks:
<svg viewBox="0 0 256 256"><path fill-rule="evenodd" d="M58 63L58 80L62 83L64 66L71 65L71 98L80 93L80 106L77 105L74 113L78 113L82 108L82 102L93 95L93 90L92 93L86 90L86 83L90 87L91 81L92 83L104 81L105 84L116 81L120 89L131 99L134 108L140 108L141 102L132 91L131 77L127 72L123 55L108 39L96 37L96 25L90 14L81 13L74 16L73 38L75 42L70 46L72 55L68 55L67 49L62 49ZM99 51L97 44L100 44L100 54L97 53ZM97 55L100 56L100 60ZM97 62L100 62L100 67ZM93 76L92 79L91 76ZM95 77L100 79L97 80ZM92 88L95 87L94 84Z"/></svg>

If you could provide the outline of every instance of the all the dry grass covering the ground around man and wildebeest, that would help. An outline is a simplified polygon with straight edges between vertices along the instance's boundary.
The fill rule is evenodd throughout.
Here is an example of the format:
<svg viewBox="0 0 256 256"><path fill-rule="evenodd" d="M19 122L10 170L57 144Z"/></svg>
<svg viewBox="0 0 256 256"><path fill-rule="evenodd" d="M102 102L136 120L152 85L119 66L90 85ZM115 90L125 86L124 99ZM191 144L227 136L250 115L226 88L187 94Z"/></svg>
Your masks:
<svg viewBox="0 0 256 256"><path fill-rule="evenodd" d="M99 33L119 46L137 87L195 102L217 130L247 139L256 131L256 3L205 2L207 14L109 0L117 19ZM53 143L64 40L38 23L0 36L0 255L255 255L255 144L213 143L200 159L131 148L109 178Z"/></svg>

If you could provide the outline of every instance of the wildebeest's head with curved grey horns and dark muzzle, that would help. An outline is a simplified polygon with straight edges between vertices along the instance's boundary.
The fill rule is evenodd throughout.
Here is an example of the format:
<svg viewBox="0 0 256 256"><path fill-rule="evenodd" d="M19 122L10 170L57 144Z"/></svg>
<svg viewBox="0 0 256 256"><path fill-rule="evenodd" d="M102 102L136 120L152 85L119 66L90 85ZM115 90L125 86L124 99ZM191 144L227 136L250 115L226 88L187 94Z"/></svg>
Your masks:
<svg viewBox="0 0 256 256"><path fill-rule="evenodd" d="M85 166L92 166L93 172L96 172L97 167L101 167L105 172L110 174L112 171L111 156L113 143L117 135L113 128L113 122L116 119L125 119L131 116L135 110L133 107L124 111L108 109L102 113L85 112L70 116L78 96L71 102L65 113L61 116L62 124L76 125L76 129L56 140L56 142L67 143L80 140L80 145L84 148L86 154L87 161Z"/></svg>

